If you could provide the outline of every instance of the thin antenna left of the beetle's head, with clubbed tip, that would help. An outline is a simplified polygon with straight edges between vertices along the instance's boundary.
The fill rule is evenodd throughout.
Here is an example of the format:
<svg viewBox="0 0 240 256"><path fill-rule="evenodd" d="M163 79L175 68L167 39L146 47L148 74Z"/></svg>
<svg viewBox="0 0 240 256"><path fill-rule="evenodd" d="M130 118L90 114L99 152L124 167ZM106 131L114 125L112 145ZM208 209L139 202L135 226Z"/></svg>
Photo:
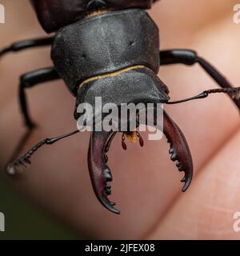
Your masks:
<svg viewBox="0 0 240 256"><path fill-rule="evenodd" d="M43 139L41 142L38 142L35 146L33 146L26 154L24 154L21 158L16 159L14 162L11 162L9 166L7 167L8 174L14 175L18 171L18 167L20 166L26 166L27 164L30 164L30 158L32 155L39 150L44 145L52 145L55 142L58 142L62 138L70 137L74 134L78 134L79 130L74 130L74 132L71 132L69 134L64 134L61 136L58 136L56 138L46 138Z"/></svg>

